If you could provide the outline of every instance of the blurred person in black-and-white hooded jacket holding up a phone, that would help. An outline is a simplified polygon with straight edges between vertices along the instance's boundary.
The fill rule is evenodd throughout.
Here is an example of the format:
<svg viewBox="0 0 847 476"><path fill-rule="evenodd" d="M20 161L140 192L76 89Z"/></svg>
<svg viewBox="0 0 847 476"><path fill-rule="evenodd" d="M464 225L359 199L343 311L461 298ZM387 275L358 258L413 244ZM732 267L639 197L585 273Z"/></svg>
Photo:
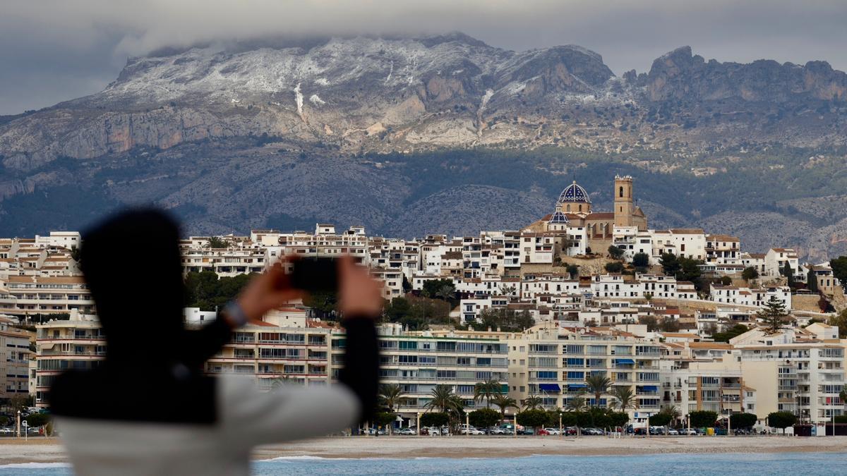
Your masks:
<svg viewBox="0 0 847 476"><path fill-rule="evenodd" d="M233 329L301 296L280 263L199 330L185 329L179 227L156 209L120 213L83 234L80 267L106 335L106 358L70 370L48 396L77 474L246 474L257 445L329 434L372 415L379 386L379 284L339 263L346 353L339 383L257 390L203 374Z"/></svg>

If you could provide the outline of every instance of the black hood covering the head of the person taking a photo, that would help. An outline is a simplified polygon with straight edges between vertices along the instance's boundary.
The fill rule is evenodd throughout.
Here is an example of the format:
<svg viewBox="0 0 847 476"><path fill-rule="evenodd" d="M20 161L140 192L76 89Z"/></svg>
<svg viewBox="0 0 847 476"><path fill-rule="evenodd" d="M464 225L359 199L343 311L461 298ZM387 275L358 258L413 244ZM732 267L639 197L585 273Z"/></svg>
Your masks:
<svg viewBox="0 0 847 476"><path fill-rule="evenodd" d="M118 213L82 234L80 268L107 340L107 362L180 360L185 299L180 230L158 209Z"/></svg>

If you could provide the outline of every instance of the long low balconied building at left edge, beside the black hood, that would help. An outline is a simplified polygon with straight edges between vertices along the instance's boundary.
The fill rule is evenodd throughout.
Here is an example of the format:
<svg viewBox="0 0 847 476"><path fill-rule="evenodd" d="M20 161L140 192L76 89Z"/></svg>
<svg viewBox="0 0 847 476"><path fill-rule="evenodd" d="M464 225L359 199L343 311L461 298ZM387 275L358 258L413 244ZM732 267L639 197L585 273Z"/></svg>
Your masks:
<svg viewBox="0 0 847 476"><path fill-rule="evenodd" d="M25 318L94 312L94 301L81 276L8 276L0 286L0 313Z"/></svg>

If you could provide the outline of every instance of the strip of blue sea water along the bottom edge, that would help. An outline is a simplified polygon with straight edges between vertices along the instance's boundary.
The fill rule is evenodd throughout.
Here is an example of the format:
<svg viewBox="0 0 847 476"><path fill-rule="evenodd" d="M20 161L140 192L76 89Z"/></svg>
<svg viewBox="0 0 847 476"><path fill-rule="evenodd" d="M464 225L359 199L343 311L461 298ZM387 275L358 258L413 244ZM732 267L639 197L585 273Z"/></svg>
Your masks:
<svg viewBox="0 0 847 476"><path fill-rule="evenodd" d="M253 462L257 476L292 474L844 474L847 452L658 454L613 457L527 456L508 458L279 457ZM73 474L64 463L0 466L0 475Z"/></svg>

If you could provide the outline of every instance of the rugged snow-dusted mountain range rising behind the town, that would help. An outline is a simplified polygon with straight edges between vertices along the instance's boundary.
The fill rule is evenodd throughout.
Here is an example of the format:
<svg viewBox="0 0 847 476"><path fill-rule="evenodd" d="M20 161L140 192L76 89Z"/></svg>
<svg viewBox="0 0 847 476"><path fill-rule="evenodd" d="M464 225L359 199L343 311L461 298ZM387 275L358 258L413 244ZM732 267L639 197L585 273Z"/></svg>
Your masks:
<svg viewBox="0 0 847 476"><path fill-rule="evenodd" d="M825 62L690 47L620 76L584 47L512 52L461 33L168 49L97 94L0 118L0 235L139 202L191 233L318 219L473 233L531 222L594 169L610 183L631 170L657 225L825 257L847 246L845 217L804 208L844 199L845 98L847 75Z"/></svg>

